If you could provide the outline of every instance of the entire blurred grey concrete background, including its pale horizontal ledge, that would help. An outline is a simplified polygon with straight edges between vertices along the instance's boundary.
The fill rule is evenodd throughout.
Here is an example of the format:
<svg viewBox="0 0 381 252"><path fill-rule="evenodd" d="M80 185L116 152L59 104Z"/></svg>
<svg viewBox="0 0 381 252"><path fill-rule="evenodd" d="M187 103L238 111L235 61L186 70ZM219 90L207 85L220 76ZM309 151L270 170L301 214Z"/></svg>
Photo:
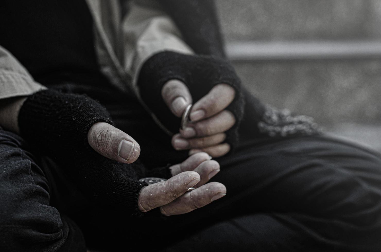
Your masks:
<svg viewBox="0 0 381 252"><path fill-rule="evenodd" d="M381 151L380 0L216 0L227 53L263 102Z"/></svg>

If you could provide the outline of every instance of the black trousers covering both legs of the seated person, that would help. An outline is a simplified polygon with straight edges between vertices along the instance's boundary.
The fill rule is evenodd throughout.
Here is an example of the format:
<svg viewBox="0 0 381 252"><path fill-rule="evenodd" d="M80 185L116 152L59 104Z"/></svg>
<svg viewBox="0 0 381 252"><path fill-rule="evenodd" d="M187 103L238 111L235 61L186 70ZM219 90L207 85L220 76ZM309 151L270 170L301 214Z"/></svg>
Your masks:
<svg viewBox="0 0 381 252"><path fill-rule="evenodd" d="M102 103L139 142L148 166L184 158L134 100L120 106L122 98L105 96ZM240 146L218 159L221 172L213 178L227 195L168 218L87 204L62 167L32 156L21 137L1 130L0 250L85 251L86 239L90 247L123 250L380 251L377 153L327 136L258 139L250 113L245 117Z"/></svg>

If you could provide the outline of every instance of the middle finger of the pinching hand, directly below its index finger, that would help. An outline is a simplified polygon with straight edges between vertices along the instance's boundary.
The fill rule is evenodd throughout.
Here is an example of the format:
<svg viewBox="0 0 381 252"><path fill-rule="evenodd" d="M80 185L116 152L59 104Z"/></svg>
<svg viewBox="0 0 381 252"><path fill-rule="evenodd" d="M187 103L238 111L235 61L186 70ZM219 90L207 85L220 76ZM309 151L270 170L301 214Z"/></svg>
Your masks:
<svg viewBox="0 0 381 252"><path fill-rule="evenodd" d="M227 131L234 124L234 115L223 110L211 118L189 124L187 128L180 130L180 135L182 138L212 136Z"/></svg>

